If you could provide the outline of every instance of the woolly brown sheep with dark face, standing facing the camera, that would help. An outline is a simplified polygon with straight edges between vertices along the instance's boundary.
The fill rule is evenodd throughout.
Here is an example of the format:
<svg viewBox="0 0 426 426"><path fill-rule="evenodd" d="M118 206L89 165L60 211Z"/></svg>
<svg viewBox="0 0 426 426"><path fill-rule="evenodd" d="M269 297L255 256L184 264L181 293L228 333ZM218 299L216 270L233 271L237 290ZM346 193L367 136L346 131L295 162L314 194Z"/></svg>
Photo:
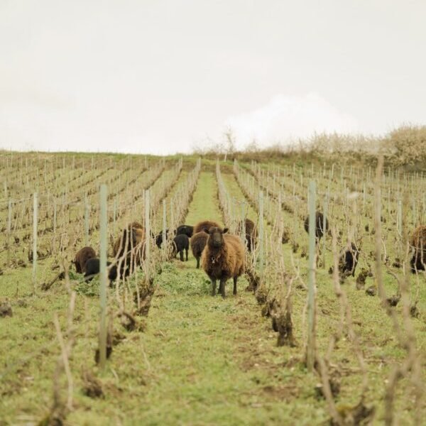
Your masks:
<svg viewBox="0 0 426 426"><path fill-rule="evenodd" d="M244 244L236 235L228 235L228 228L211 226L204 229L207 238L201 263L205 273L212 281L212 296L216 295L216 280L220 280L219 292L225 297L225 284L229 278L234 278L234 295L236 281L244 273Z"/></svg>

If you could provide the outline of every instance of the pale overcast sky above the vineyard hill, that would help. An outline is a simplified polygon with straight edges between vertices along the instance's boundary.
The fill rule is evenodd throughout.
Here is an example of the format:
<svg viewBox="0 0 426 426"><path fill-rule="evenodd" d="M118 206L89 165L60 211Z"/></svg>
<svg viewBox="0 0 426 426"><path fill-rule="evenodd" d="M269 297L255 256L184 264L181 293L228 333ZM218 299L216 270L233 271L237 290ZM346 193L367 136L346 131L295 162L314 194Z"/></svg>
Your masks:
<svg viewBox="0 0 426 426"><path fill-rule="evenodd" d="M426 1L0 0L0 148L174 153L426 119ZM210 141L210 142L209 142Z"/></svg>

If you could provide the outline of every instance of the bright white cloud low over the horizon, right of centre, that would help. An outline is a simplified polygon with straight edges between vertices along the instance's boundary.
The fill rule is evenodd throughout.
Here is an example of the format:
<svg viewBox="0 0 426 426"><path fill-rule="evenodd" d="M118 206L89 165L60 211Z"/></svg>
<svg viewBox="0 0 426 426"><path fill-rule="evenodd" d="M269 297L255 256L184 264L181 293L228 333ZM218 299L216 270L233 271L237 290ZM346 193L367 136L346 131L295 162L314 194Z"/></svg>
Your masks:
<svg viewBox="0 0 426 426"><path fill-rule="evenodd" d="M358 130L353 116L345 114L315 93L305 96L278 94L268 104L226 119L236 136L238 146L256 140L261 146L271 143L290 143L312 133Z"/></svg>

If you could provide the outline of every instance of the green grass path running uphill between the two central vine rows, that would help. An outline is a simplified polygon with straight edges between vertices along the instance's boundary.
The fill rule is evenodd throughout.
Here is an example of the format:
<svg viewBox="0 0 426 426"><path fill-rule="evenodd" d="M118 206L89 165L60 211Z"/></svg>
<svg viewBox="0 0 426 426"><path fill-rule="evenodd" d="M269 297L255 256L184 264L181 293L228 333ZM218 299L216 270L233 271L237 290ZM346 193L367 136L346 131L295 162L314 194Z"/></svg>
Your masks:
<svg viewBox="0 0 426 426"><path fill-rule="evenodd" d="M222 222L218 205L214 174L201 173L185 222ZM125 412L125 424L146 425L282 425L295 415L305 419L298 424L312 425L325 419L322 408L307 413L312 400L295 399L295 378L305 375L282 366L298 349L276 348L244 278L236 297L230 283L226 300L212 297L207 275L191 256L187 263L165 264L158 285L143 343L119 345L115 355L126 366L116 367L118 376L133 364L133 398L119 412L114 403L105 405L101 418Z"/></svg>

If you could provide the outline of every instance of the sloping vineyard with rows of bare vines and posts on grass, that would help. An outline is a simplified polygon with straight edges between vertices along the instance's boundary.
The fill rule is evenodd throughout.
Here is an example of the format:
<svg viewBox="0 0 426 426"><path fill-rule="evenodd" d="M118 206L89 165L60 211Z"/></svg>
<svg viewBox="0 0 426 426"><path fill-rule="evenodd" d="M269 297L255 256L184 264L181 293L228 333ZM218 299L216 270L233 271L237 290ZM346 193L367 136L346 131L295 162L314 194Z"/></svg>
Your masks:
<svg viewBox="0 0 426 426"><path fill-rule="evenodd" d="M0 425L414 425L425 422L426 277L410 236L426 174L383 166L193 156L2 153ZM106 185L102 207L99 185ZM107 288L76 272L123 229L140 268ZM317 236L308 212L322 212ZM219 222L246 273L212 297L155 237ZM312 221L311 221L312 222ZM309 231L309 229L308 229ZM354 244L354 274L342 255ZM352 272L352 271L351 271ZM101 324L101 325L99 325Z"/></svg>

